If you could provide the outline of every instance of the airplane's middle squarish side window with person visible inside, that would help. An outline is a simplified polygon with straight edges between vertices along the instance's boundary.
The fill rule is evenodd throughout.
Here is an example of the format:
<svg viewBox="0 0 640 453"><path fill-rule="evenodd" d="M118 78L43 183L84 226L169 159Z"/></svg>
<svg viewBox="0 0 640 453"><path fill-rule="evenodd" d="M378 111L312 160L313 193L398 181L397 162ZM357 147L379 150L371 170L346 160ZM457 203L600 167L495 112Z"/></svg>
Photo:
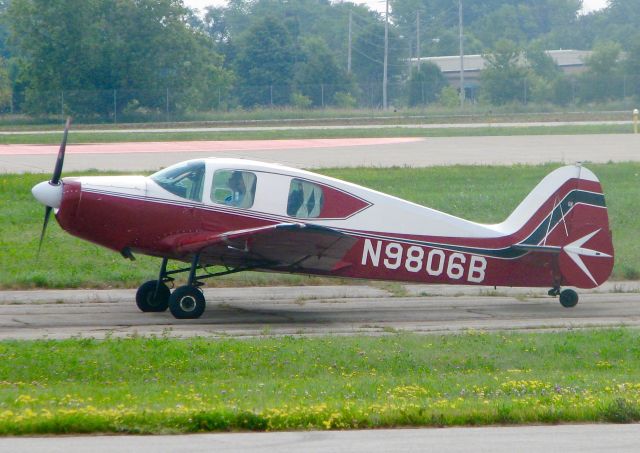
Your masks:
<svg viewBox="0 0 640 453"><path fill-rule="evenodd" d="M256 179L248 171L218 170L213 174L211 201L249 209L256 195Z"/></svg>

